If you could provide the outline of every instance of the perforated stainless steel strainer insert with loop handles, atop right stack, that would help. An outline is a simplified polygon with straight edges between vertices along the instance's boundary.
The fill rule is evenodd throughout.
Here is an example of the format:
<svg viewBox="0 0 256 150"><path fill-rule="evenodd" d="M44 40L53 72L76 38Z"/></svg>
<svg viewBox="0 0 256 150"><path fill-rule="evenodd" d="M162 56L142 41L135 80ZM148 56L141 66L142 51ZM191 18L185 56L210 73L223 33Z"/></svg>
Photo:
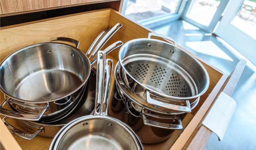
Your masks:
<svg viewBox="0 0 256 150"><path fill-rule="evenodd" d="M148 38L126 42L119 50L119 62L118 72L127 88L152 109L191 112L190 103L209 87L204 66L164 35L149 33Z"/></svg>

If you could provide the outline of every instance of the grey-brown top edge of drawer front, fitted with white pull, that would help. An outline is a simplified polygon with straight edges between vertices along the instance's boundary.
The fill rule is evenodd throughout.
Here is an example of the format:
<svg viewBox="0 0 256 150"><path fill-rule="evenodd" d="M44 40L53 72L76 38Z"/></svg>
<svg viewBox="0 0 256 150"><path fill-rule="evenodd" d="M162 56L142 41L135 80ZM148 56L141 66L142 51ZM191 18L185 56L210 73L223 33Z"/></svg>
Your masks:
<svg viewBox="0 0 256 150"><path fill-rule="evenodd" d="M222 92L224 92L225 94L227 94L229 96L232 95L232 93L233 93L233 91L234 91L234 89L235 89L235 87L237 85L237 82L238 82L238 80L239 80L239 78L240 78L240 76L241 76L241 74L242 74L242 72L243 72L243 70L245 68L246 62L247 62L246 60L241 59L237 63L236 67L233 69L233 71L228 76L228 78L227 78L226 82L224 83L222 89L220 90L219 94L222 91ZM214 103L212 103L212 105L213 104ZM212 107L212 105L211 105L211 107ZM210 111L210 108L207 111L207 113ZM207 113L205 114L205 116L207 115ZM202 123L202 121L201 121L201 123ZM201 125L201 123L200 123L200 125ZM188 142L185 144L183 149L187 149L187 150L194 150L194 149L203 150L205 148L209 138L211 137L211 134L212 134L211 130L209 130L206 126L201 125L199 127L199 129L196 130L191 135L191 137L189 138Z"/></svg>

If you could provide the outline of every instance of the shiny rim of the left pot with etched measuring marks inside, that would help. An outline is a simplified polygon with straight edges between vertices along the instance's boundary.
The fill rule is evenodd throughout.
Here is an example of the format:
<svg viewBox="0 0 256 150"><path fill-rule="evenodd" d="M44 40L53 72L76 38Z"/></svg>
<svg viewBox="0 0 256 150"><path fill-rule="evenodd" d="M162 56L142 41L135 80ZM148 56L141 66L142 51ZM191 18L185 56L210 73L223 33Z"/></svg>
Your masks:
<svg viewBox="0 0 256 150"><path fill-rule="evenodd" d="M26 50L27 48L34 47L34 46L41 45L41 44L54 44L54 45L55 45L55 44L58 44L58 45L62 45L62 46L68 46L68 47L71 47L71 48L77 50L79 53L81 53L81 54L86 58L86 60L87 60L87 62L88 62L88 64L89 64L89 67L88 67L89 71L88 71L88 74L87 74L87 76L86 76L84 82L82 82L82 83L80 84L80 86L78 86L75 90L73 90L72 92L70 92L70 93L68 93L68 94L66 94L66 95L64 95L64 96L61 96L61 97L55 98L55 99L51 99L51 100L45 100L45 101L29 101L29 100L24 100L24 99L19 99L19 98L13 97L13 96L11 96L9 93L7 93L7 92L2 88L2 86L1 86L1 84L0 84L0 91L3 92L5 95L7 95L7 97L9 97L9 98L11 98L11 99L13 99L13 100L17 100L17 101L25 102L25 103L47 103L47 102L52 102L52 101L56 101L56 100L60 100L60 99L62 99L62 98L65 98L65 97L67 97L67 96L69 96L69 95L75 93L77 90L79 90L81 87L83 87L83 86L86 84L86 82L87 82L87 80L88 80L88 78L89 78L89 76L90 76L90 73L91 73L91 63L90 63L89 58L88 58L87 55L86 55L83 51L81 51L80 49L78 49L78 48L76 48L76 47L74 47L74 46L72 46L72 45L64 44L64 43L45 42L45 43L38 43L38 44L33 44L33 45L30 45L30 46L26 46L26 47L24 47L24 48L22 48L22 49L19 49L19 50L13 52L12 54L8 55L8 56L1 62L0 67L2 66L2 64L3 64L5 61L8 60L11 56L14 56L14 55L16 55L17 53L19 53L19 52L21 52L21 51L24 51L24 50Z"/></svg>

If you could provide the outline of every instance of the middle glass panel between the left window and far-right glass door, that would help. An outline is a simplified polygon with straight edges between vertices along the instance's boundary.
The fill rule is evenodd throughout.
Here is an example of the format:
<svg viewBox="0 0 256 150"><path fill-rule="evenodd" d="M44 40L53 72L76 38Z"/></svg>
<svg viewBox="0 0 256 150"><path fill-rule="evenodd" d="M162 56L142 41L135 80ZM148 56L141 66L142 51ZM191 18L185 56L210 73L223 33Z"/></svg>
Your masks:
<svg viewBox="0 0 256 150"><path fill-rule="evenodd" d="M182 19L212 33L228 0L188 0Z"/></svg>

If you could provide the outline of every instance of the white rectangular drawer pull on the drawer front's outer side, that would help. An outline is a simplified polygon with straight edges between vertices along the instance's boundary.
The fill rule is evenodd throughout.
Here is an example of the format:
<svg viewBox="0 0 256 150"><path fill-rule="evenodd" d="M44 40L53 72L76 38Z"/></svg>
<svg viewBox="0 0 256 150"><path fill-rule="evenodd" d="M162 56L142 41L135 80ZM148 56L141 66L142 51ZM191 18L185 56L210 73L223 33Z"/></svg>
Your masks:
<svg viewBox="0 0 256 150"><path fill-rule="evenodd" d="M235 109L235 100L221 92L202 124L213 131L221 141Z"/></svg>

